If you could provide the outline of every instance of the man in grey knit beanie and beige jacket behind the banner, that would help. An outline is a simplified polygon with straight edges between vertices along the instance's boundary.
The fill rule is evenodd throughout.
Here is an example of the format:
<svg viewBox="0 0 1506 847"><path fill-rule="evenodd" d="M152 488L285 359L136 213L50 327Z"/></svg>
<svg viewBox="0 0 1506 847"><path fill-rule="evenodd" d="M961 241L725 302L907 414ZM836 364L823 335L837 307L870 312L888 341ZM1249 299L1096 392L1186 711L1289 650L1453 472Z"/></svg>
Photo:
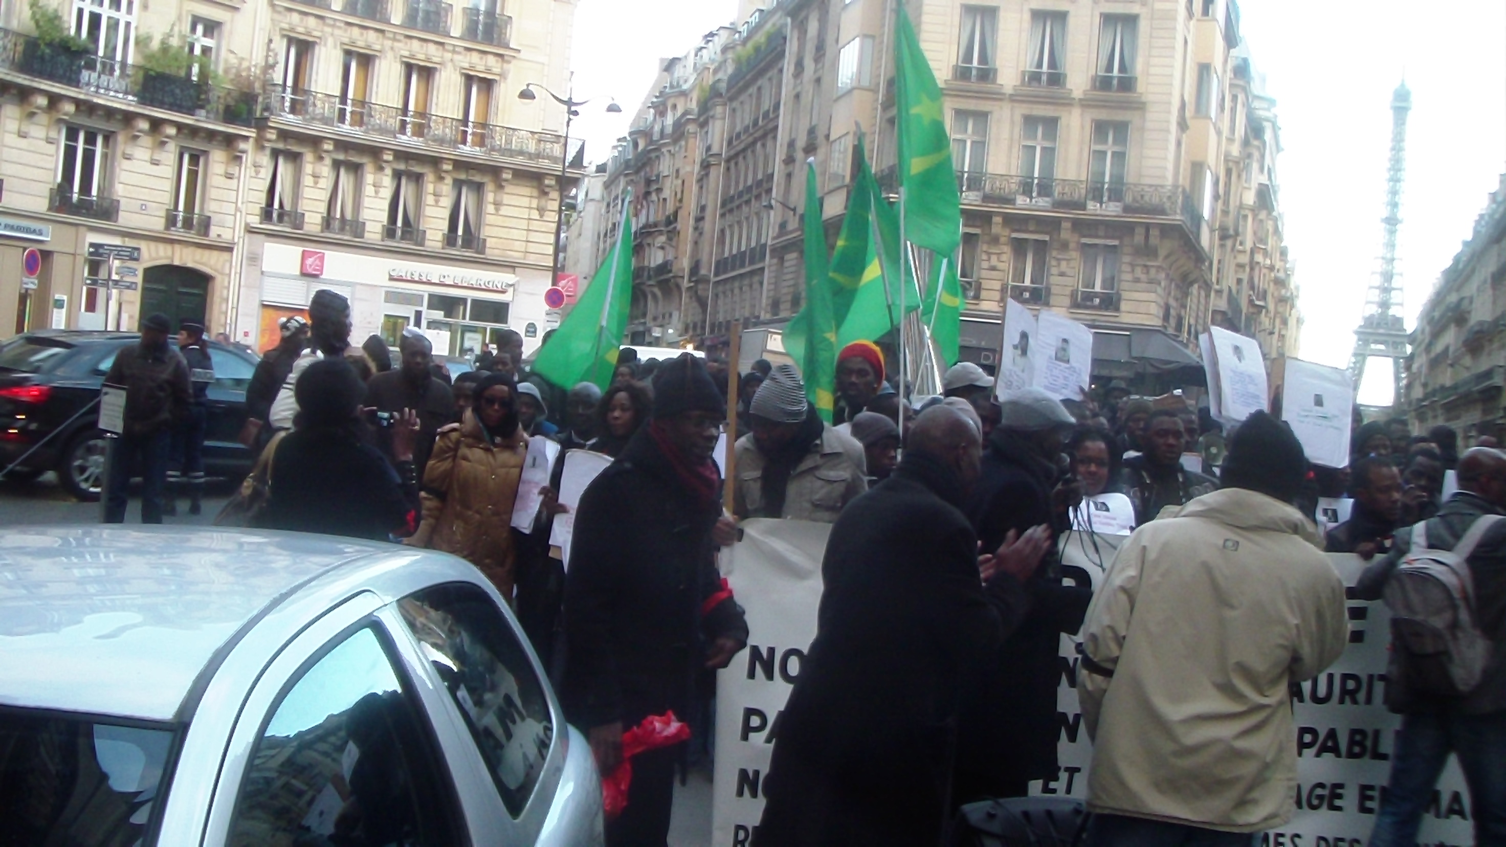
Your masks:
<svg viewBox="0 0 1506 847"><path fill-rule="evenodd" d="M863 445L821 420L794 366L770 372L748 417L753 433L736 443L736 517L834 523L867 491Z"/></svg>

